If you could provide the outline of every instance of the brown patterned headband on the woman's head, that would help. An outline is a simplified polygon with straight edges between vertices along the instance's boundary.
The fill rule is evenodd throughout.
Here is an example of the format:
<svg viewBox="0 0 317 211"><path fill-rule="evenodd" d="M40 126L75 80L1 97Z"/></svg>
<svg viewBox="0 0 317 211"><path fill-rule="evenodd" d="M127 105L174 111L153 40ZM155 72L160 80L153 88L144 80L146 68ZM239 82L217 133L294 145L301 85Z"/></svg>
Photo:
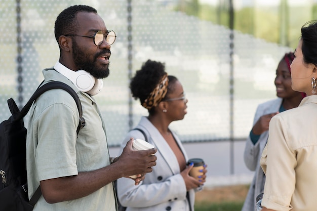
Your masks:
<svg viewBox="0 0 317 211"><path fill-rule="evenodd" d="M167 93L167 87L169 85L169 78L167 74L165 74L159 84L155 87L155 89L149 94L149 96L144 100L142 106L146 109L151 109L152 107L157 106L161 100L165 97Z"/></svg>

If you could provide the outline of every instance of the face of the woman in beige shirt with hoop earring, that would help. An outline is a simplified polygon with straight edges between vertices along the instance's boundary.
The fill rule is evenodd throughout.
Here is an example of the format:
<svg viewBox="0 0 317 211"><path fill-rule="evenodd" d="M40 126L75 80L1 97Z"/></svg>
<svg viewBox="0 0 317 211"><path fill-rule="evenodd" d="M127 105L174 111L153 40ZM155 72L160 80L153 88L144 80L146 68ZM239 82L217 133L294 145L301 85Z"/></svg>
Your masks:
<svg viewBox="0 0 317 211"><path fill-rule="evenodd" d="M307 96L311 94L311 78L316 78L317 74L313 64L305 64L302 53L302 40L298 42L295 50L295 58L291 64L292 89L304 92Z"/></svg>

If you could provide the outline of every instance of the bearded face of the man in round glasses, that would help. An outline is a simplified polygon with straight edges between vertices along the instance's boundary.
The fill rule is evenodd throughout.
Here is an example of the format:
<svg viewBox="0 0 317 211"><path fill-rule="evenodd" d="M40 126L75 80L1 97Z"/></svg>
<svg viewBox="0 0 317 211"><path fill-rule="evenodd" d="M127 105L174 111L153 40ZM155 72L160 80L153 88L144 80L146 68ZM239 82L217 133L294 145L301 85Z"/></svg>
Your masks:
<svg viewBox="0 0 317 211"><path fill-rule="evenodd" d="M77 35L93 36L97 31L107 31L103 20L95 13L80 12L77 14L77 22ZM96 46L93 38L72 37L72 58L77 70L83 69L95 78L105 78L109 75L110 55L110 45L106 40Z"/></svg>

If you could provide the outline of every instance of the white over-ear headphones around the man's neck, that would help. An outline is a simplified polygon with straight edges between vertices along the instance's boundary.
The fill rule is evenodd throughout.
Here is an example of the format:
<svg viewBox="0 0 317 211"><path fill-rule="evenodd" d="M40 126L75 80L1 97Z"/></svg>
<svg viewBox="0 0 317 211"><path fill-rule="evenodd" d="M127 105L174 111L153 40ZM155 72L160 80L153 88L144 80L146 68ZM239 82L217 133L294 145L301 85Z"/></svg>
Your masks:
<svg viewBox="0 0 317 211"><path fill-rule="evenodd" d="M78 88L78 90L90 95L97 95L103 87L102 79L95 78L85 70L72 71L60 62L56 62L54 69L67 77Z"/></svg>

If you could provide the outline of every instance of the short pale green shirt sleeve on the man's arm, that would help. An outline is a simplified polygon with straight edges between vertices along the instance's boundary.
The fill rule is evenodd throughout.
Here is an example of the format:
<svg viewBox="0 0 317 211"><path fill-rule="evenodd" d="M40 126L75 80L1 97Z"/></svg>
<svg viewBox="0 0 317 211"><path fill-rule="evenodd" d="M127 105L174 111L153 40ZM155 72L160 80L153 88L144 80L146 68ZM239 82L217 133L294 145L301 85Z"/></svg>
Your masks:
<svg viewBox="0 0 317 211"><path fill-rule="evenodd" d="M33 134L38 140L35 153L39 180L77 175L78 111L63 103L55 103L38 112Z"/></svg>

